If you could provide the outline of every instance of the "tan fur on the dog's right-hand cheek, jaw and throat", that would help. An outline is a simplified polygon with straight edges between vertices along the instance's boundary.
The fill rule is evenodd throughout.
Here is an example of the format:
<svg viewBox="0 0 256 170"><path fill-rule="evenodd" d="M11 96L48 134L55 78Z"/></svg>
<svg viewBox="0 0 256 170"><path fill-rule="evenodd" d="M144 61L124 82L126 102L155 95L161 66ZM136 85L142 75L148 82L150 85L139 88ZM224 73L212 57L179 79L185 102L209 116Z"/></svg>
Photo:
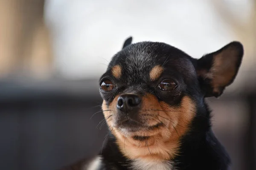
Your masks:
<svg viewBox="0 0 256 170"><path fill-rule="evenodd" d="M183 97L179 108L172 108L165 102L158 102L154 95L143 97L142 110L147 110L152 116L159 115L159 121L165 126L153 131L140 131L133 135L151 136L145 142L136 141L133 135L122 134L113 128L116 143L121 152L129 159L144 159L146 161L163 161L173 159L178 155L180 137L189 130L190 123L195 117L195 105L189 97ZM154 111L151 111L154 110ZM165 110L165 111L157 111ZM157 117L154 118L157 120ZM156 124L156 121L152 121ZM150 124L151 121L148 121Z"/></svg>

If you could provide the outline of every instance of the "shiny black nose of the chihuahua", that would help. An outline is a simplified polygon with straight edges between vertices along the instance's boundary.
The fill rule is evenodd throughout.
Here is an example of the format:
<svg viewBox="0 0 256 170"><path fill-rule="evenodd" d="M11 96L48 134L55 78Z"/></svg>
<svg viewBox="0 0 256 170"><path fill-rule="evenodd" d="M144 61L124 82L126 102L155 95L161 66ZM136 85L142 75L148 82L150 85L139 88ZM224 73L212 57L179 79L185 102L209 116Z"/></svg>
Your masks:
<svg viewBox="0 0 256 170"><path fill-rule="evenodd" d="M140 97L135 94L123 94L117 99L117 108L129 112L140 104Z"/></svg>

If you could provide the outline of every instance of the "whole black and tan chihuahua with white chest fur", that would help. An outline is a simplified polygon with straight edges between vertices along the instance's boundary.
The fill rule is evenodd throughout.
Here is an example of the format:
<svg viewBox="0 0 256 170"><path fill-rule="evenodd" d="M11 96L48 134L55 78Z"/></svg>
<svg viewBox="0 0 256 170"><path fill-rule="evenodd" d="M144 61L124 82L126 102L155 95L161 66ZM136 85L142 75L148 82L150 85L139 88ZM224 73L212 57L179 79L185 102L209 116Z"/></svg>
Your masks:
<svg viewBox="0 0 256 170"><path fill-rule="evenodd" d="M206 97L220 96L239 70L240 42L200 59L162 42L125 41L99 81L109 127L88 170L227 170Z"/></svg>

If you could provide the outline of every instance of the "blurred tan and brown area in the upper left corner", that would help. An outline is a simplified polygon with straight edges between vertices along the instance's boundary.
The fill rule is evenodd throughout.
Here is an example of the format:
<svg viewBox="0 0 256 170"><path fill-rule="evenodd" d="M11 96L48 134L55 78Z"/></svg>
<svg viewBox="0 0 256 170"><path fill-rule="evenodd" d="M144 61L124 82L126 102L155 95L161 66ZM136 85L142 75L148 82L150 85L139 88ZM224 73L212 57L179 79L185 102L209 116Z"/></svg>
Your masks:
<svg viewBox="0 0 256 170"><path fill-rule="evenodd" d="M52 54L44 0L0 0L0 77L49 77Z"/></svg>

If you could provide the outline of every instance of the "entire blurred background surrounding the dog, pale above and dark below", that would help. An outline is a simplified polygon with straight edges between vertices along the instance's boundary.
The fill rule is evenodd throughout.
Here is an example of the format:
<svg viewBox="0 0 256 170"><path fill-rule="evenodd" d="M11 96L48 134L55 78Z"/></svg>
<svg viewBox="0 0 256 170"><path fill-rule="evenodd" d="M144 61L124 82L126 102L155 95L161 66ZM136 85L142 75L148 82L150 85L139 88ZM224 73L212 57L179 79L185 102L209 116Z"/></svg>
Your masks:
<svg viewBox="0 0 256 170"><path fill-rule="evenodd" d="M256 170L256 0L0 0L0 25L1 170L79 167L101 150L97 81L129 36L195 58L244 45L235 82L207 100L231 169Z"/></svg>

